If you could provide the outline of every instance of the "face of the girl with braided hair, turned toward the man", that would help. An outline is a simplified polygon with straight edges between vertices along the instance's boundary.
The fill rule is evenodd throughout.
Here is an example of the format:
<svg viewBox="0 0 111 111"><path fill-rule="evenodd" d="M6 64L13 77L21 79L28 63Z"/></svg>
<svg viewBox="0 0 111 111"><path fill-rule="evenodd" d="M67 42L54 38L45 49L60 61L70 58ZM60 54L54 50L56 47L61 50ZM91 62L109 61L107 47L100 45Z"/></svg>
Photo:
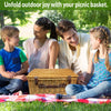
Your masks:
<svg viewBox="0 0 111 111"><path fill-rule="evenodd" d="M90 33L90 43L93 50L99 49L100 40L95 39L92 33Z"/></svg>

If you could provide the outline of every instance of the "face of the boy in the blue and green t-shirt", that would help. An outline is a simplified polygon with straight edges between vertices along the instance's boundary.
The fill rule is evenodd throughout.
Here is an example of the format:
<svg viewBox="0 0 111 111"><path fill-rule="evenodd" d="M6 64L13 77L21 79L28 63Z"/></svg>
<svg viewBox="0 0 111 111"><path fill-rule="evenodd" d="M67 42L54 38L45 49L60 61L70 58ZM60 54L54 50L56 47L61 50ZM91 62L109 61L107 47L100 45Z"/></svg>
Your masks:
<svg viewBox="0 0 111 111"><path fill-rule="evenodd" d="M16 32L14 33L14 36L13 37L11 37L11 38L9 38L9 43L10 43L10 46L12 46L12 47L17 47L17 46L19 46L19 32Z"/></svg>

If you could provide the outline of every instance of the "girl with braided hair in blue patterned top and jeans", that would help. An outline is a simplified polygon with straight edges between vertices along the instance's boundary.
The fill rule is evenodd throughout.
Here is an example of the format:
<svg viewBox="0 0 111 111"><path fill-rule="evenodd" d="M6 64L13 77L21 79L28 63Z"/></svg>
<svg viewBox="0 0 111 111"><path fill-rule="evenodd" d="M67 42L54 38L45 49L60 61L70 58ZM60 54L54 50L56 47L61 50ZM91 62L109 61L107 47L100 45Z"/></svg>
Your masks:
<svg viewBox="0 0 111 111"><path fill-rule="evenodd" d="M93 74L87 85L68 84L65 88L67 95L57 94L57 99L87 99L111 95L110 39L110 30L105 27L95 27L90 30L91 46L97 52L90 56L87 74Z"/></svg>

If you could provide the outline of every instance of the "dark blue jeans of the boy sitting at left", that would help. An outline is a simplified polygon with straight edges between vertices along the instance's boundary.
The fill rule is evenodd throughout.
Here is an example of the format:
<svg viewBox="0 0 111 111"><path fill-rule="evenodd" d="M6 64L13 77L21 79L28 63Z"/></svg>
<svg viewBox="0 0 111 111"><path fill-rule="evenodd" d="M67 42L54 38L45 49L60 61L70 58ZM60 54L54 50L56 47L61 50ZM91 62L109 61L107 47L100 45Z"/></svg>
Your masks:
<svg viewBox="0 0 111 111"><path fill-rule="evenodd" d="M0 94L12 94L22 90L23 81L20 79L8 79L0 74Z"/></svg>

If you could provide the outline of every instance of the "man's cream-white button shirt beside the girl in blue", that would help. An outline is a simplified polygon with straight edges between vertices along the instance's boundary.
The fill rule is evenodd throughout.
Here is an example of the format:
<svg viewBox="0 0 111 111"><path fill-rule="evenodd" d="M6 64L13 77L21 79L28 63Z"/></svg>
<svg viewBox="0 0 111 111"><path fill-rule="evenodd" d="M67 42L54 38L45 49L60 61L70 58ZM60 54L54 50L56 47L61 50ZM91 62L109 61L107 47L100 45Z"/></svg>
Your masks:
<svg viewBox="0 0 111 111"><path fill-rule="evenodd" d="M69 44L65 41L61 41L59 52L59 68L72 69L75 73L79 71L88 71L88 61L90 56L90 36L87 33L78 33L79 46L72 53ZM73 63L73 68L71 67Z"/></svg>

